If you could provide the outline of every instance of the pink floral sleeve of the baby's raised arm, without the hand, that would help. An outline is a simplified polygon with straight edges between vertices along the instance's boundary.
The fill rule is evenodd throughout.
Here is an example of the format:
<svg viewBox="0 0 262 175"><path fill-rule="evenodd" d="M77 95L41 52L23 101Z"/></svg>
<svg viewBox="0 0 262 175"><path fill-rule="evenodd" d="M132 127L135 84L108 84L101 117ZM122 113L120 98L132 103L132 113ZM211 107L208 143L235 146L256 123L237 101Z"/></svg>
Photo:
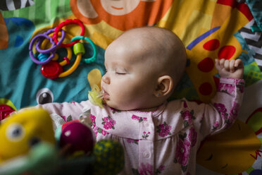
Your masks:
<svg viewBox="0 0 262 175"><path fill-rule="evenodd" d="M200 132L204 137L232 126L242 104L243 92L244 80L220 78L218 92L211 99L210 104L187 104L196 114L203 114L203 117L194 120L194 123L196 126L199 125Z"/></svg>

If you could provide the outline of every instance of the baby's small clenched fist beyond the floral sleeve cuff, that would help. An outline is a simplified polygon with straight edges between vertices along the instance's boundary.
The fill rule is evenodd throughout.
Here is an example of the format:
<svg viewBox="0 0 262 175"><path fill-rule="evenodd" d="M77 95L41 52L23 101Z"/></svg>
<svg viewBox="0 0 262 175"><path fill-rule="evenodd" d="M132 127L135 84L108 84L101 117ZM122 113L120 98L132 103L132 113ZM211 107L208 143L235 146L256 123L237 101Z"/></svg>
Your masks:
<svg viewBox="0 0 262 175"><path fill-rule="evenodd" d="M244 64L241 59L216 59L216 69L218 69L218 74L223 78L236 78L240 79L243 77Z"/></svg>

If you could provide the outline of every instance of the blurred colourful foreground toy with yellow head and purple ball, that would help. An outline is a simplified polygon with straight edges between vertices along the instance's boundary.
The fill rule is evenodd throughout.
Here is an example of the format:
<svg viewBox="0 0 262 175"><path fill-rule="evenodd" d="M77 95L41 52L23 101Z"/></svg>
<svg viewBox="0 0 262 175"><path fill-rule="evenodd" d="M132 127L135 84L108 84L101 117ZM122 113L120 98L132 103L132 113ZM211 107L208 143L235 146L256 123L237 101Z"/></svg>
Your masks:
<svg viewBox="0 0 262 175"><path fill-rule="evenodd" d="M123 169L120 143L95 143L92 129L79 121L64 123L60 131L57 144L51 117L44 109L26 109L8 117L0 125L0 174L100 175Z"/></svg>

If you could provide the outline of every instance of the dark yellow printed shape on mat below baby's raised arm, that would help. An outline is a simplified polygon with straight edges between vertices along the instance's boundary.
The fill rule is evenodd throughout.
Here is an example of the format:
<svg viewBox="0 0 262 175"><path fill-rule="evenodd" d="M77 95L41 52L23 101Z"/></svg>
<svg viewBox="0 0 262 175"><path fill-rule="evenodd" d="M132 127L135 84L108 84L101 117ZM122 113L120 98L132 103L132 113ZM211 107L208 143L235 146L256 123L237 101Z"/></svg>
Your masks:
<svg viewBox="0 0 262 175"><path fill-rule="evenodd" d="M262 152L261 114L262 108L258 108L245 123L237 120L229 130L208 137L199 149L196 162L221 174L254 170L252 166Z"/></svg>

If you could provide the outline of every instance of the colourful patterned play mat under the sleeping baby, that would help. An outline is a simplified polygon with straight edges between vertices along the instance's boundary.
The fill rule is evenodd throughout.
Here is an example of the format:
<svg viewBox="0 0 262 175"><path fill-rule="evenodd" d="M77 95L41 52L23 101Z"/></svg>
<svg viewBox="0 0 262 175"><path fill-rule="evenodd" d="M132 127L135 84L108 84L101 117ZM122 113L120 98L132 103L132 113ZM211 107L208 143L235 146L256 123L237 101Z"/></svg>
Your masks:
<svg viewBox="0 0 262 175"><path fill-rule="evenodd" d="M181 38L188 55L185 76L170 99L208 102L219 80L214 59L244 62L246 90L237 122L203 142L196 174L262 174L261 11L259 0L1 1L1 119L36 104L86 100L92 85L99 85L105 73L104 51L118 35L145 25L168 28ZM40 37L41 45L32 43L30 49L34 37L68 19L80 20L83 28L79 23L61 25L66 33L63 42L69 43L75 36L88 37L96 48L94 62L80 61L94 55L92 43L87 41L82 57L74 54L73 47L39 54L36 47L54 46L47 34ZM54 65L35 64L30 52L37 60L44 61L52 54L57 60L52 61Z"/></svg>

